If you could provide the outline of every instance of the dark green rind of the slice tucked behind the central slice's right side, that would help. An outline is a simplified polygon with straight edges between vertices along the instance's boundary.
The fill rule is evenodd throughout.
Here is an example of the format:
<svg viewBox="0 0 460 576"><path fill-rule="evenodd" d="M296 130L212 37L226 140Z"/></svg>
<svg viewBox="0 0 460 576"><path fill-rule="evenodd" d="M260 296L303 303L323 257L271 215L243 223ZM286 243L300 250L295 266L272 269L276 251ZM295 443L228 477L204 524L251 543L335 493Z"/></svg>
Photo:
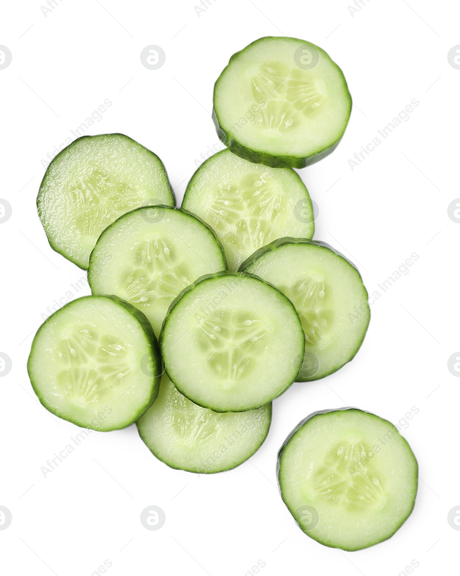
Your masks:
<svg viewBox="0 0 460 576"><path fill-rule="evenodd" d="M256 250L256 252L254 252L251 256L249 256L249 258L247 258L241 264L241 266L239 267L238 270L240 272L246 271L247 268L252 266L252 264L254 264L254 262L256 262L256 260L258 258L260 258L261 256L263 256L265 253L271 252L272 250L276 250L276 248L279 248L280 246L284 246L285 244L312 244L314 246L318 246L320 248L326 248L326 249L330 250L331 252L334 252L337 256L343 258L346 262L348 262L348 264L350 264L353 268L355 268L356 272L358 272L359 279L363 285L364 293L366 295L368 319L367 319L366 328L363 331L363 337L362 337L362 339L359 340L359 342L357 342L355 351L348 358L348 360L346 360L343 364L341 364L340 366L337 366L333 370L330 370L330 372L328 372L327 374L323 374L323 376L317 377L315 375L315 376L311 376L310 378L304 378L303 376L299 376L299 374L297 374L297 376L296 376L296 378L297 378L296 382L313 382L314 380L321 380L322 378L325 378L326 376L330 376L330 374L337 372L337 370L340 370L341 367L345 366L345 364L347 364L348 362L351 362L352 359L355 358L356 354L358 354L358 350L362 346L362 344L364 342L364 338L366 338L367 328L369 327L369 323L371 321L371 308L368 304L368 293L367 293L366 286L364 286L364 282L363 282L362 276L358 270L358 267L355 266L355 264L353 264L353 262L351 262L351 260L348 260L348 258L345 257L343 254L341 254L338 250L336 250L335 248L333 248L332 246L330 246L326 242L322 242L321 240L309 240L308 238L289 238L289 237L279 238L278 240L274 240L273 242L270 242L270 244L267 244L267 245L259 248L258 250Z"/></svg>

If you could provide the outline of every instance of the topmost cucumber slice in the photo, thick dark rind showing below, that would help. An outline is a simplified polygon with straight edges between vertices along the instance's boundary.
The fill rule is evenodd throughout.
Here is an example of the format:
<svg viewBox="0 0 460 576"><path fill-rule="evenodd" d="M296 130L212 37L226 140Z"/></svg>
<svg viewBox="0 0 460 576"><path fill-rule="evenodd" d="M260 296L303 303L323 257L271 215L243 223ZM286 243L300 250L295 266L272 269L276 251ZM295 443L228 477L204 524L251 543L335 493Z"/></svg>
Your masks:
<svg viewBox="0 0 460 576"><path fill-rule="evenodd" d="M320 47L266 36L237 52L214 86L212 119L232 152L258 164L303 168L345 132L351 96Z"/></svg>

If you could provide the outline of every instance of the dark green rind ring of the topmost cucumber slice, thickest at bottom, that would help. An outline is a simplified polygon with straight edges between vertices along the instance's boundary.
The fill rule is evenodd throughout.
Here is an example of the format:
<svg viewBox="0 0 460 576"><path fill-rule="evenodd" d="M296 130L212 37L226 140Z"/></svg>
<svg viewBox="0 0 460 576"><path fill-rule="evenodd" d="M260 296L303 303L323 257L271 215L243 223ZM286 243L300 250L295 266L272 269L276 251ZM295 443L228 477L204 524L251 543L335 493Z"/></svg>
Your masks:
<svg viewBox="0 0 460 576"><path fill-rule="evenodd" d="M310 154L310 156L272 156L272 154L268 154L267 152L264 152L263 150L252 150L252 149L248 148L247 146L244 146L241 142L238 142L236 137L231 135L230 132L227 132L225 130L225 128L223 128L221 122L219 122L219 115L218 115L218 112L215 108L215 94L216 94L216 90L218 89L219 80L222 78L223 74L225 74L225 71L230 66L230 64L233 62L233 60L236 59L239 56L239 54L241 54L241 52L244 52L247 48L249 48L250 46L253 46L253 44L257 44L257 42L260 42L261 40L277 39L279 37L280 36L263 36L261 38L258 38L257 40L254 40L253 42L248 44L248 46L245 46L242 50L235 52L235 54L233 54L230 57L229 63L222 70L221 74L219 75L219 78L215 81L215 84L214 84L214 92L213 92L213 98L212 98L212 103L213 103L213 105L212 105L212 121L214 122L214 126L216 128L216 132L217 132L217 135L219 137L219 140L221 142L223 142L227 147L229 147L229 149L234 154L237 154L237 156L241 156L241 158L245 158L245 160L249 160L249 162L254 162L256 164L265 164L267 166L271 166L271 168L305 168L305 166L309 166L310 164L314 164L315 162L322 160L322 158L325 158L326 156L328 156L331 152L333 152L336 149L336 147L339 145L341 138L343 137L343 135L345 133L345 130L347 129L348 122L349 122L350 115L351 115L351 108L352 108L351 94L349 93L347 80L345 79L343 71L341 70L340 66L337 65L332 58L330 58L328 52L323 50L320 46L316 46L316 44L313 44L313 42L309 42L307 40L301 40L300 38L287 37L288 40L299 40L301 42L311 44L311 46L318 48L320 52L324 52L324 54L326 54L326 56L328 56L332 65L335 66L337 68L337 70L339 70L339 73L342 75L344 88L347 90L347 94L348 94L348 96L347 96L347 94L345 94L345 97L348 97L348 100L349 100L349 112L348 112L348 119L347 119L347 122L345 123L345 126L344 126L342 133L340 134L340 136L336 140L336 142L334 142L332 145L326 147L325 149L318 150L316 153Z"/></svg>

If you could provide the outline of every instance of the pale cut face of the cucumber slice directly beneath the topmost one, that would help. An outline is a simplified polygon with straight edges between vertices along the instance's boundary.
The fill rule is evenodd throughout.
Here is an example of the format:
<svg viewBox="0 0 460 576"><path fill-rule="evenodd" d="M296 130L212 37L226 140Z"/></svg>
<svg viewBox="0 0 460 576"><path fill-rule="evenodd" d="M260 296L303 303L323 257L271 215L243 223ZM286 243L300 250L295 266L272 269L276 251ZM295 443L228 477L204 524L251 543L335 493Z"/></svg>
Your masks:
<svg viewBox="0 0 460 576"><path fill-rule="evenodd" d="M314 232L310 196L294 170L253 164L230 150L214 154L196 170L182 206L215 231L229 270L238 270L276 238L311 238Z"/></svg>

